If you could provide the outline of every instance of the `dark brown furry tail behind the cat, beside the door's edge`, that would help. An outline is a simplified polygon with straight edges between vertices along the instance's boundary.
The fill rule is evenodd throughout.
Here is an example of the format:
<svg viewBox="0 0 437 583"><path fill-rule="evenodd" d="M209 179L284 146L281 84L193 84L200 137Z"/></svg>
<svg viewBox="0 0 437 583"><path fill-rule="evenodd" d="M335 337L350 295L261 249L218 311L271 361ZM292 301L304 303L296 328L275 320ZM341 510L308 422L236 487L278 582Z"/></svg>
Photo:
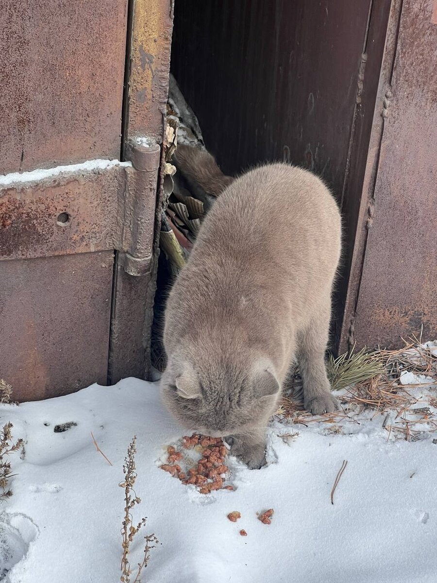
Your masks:
<svg viewBox="0 0 437 583"><path fill-rule="evenodd" d="M178 144L174 161L193 191L200 188L210 196L218 196L234 181L223 174L209 152L199 147Z"/></svg>

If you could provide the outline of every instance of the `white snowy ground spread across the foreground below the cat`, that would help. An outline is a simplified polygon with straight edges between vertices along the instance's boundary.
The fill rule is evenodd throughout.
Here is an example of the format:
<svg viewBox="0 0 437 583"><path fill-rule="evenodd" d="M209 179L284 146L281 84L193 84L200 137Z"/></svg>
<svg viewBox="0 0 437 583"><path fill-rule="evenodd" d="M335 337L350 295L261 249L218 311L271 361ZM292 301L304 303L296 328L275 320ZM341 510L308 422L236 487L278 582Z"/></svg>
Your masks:
<svg viewBox="0 0 437 583"><path fill-rule="evenodd" d="M231 458L235 491L204 496L158 468L165 447L184 431L163 409L156 384L129 378L115 387L2 405L0 423L13 423L26 451L22 460L11 457L13 496L0 508L0 581L119 581L124 490L118 483L136 434L142 503L133 518L147 516L145 533L160 540L143 583L435 583L436 434L407 442L387 433L383 419L346 417L341 429L276 421L269 465L250 471ZM68 422L76 425L54 432ZM296 430L298 437L280 437ZM91 431L112 466L96 451ZM256 517L267 508L275 512L271 525ZM227 519L231 511L241 512L236 524ZM142 559L142 547L140 538L131 563Z"/></svg>

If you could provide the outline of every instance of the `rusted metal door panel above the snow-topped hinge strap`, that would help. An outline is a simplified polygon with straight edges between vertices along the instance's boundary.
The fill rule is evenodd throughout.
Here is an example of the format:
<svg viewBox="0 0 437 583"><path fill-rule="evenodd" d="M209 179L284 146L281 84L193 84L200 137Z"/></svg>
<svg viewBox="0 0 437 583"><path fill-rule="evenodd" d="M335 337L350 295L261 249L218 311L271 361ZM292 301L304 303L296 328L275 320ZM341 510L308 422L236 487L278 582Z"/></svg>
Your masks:
<svg viewBox="0 0 437 583"><path fill-rule="evenodd" d="M127 0L3 0L0 171L119 157Z"/></svg>

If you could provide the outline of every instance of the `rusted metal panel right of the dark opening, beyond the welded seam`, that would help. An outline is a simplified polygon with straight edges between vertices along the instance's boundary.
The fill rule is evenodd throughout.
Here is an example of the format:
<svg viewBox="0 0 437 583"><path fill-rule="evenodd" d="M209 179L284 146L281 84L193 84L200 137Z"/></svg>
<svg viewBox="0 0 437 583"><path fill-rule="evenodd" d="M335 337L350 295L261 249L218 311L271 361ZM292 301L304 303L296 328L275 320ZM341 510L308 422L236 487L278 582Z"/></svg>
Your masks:
<svg viewBox="0 0 437 583"><path fill-rule="evenodd" d="M385 78L375 191L353 339L395 347L437 329L437 26L432 3L404 0ZM375 129L377 131L377 129Z"/></svg>

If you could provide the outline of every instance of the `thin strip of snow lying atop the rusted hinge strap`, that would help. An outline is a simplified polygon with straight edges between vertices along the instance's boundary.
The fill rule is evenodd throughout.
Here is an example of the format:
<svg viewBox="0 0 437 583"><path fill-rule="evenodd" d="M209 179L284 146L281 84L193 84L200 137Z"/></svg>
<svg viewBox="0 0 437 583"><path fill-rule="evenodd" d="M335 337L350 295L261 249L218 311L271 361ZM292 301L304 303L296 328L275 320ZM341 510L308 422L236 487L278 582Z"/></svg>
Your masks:
<svg viewBox="0 0 437 583"><path fill-rule="evenodd" d="M38 168L30 172L11 172L0 175L0 187L15 187L20 184L29 184L53 178L59 175L91 172L93 170L106 170L113 166L132 166L132 163L120 160L87 160L81 164L69 164L68 166L56 166L54 168Z"/></svg>

